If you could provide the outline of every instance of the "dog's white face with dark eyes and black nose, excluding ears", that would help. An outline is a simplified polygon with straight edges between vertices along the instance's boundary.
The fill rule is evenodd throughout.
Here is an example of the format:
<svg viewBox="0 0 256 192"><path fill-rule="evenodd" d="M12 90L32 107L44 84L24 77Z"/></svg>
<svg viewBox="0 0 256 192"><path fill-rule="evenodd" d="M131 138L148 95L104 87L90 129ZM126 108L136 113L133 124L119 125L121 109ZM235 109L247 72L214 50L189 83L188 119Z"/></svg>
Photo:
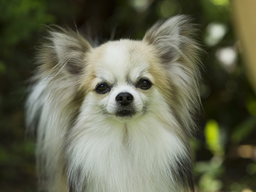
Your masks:
<svg viewBox="0 0 256 192"><path fill-rule="evenodd" d="M87 61L90 92L86 104L121 121L152 110L160 97L152 74L159 60L152 49L145 42L131 40L108 42L93 49Z"/></svg>

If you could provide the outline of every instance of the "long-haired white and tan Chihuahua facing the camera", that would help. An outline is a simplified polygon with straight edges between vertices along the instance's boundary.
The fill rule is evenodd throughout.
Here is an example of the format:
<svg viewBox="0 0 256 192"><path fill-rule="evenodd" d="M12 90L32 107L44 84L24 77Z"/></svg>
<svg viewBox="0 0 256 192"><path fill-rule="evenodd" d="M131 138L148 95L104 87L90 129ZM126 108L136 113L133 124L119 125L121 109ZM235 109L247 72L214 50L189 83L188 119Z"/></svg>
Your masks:
<svg viewBox="0 0 256 192"><path fill-rule="evenodd" d="M26 102L41 190L195 191L196 30L179 15L142 40L99 47L77 31L49 30Z"/></svg>

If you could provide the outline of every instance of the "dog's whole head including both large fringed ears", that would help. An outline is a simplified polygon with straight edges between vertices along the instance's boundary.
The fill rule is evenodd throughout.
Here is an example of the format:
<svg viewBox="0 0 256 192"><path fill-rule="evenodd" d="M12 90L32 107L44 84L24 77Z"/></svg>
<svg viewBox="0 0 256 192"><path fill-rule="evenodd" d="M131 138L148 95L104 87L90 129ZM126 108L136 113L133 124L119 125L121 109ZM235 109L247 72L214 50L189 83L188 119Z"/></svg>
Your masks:
<svg viewBox="0 0 256 192"><path fill-rule="evenodd" d="M51 76L52 89L74 113L123 121L152 111L163 116L168 108L189 132L198 107L194 34L184 16L158 22L143 40L96 48L74 31L51 31L39 54L41 75Z"/></svg>

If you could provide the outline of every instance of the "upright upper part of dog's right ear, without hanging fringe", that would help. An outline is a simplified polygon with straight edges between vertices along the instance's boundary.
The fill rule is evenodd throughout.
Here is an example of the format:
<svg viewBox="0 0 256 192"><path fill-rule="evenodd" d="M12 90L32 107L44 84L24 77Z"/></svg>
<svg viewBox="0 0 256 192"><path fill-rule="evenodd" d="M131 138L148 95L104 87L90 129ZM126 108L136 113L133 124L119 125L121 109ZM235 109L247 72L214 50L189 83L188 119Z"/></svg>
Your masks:
<svg viewBox="0 0 256 192"><path fill-rule="evenodd" d="M194 40L196 34L191 19L185 15L157 22L145 34L143 41L154 45L164 63L195 60L200 50Z"/></svg>

